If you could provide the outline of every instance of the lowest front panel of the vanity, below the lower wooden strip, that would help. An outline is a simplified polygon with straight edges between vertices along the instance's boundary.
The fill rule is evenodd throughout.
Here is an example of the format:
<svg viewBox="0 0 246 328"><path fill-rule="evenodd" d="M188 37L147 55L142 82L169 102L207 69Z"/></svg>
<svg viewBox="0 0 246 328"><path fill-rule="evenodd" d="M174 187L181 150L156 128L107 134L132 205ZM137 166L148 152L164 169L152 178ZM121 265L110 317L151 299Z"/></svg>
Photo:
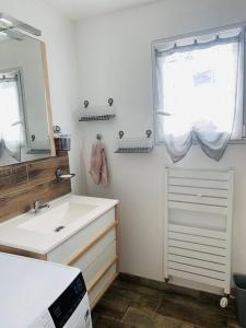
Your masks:
<svg viewBox="0 0 246 328"><path fill-rule="evenodd" d="M108 271L102 277L101 280L89 292L89 301L91 309L96 305L112 282L117 277L116 263L114 263Z"/></svg>

